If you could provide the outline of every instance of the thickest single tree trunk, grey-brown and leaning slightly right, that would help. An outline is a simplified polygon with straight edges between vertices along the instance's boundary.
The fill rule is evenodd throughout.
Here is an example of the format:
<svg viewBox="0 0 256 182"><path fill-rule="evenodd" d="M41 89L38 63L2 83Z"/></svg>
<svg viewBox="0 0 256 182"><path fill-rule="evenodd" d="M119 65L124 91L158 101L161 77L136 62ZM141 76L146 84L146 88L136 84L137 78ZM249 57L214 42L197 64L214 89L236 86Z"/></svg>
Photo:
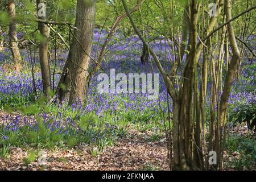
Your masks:
<svg viewBox="0 0 256 182"><path fill-rule="evenodd" d="M75 37L72 39L71 51L64 67L65 74L59 82L67 89L59 90L60 100L68 100L69 105L82 102L88 77L89 60L93 43L95 0L77 0ZM78 41L77 41L78 40Z"/></svg>

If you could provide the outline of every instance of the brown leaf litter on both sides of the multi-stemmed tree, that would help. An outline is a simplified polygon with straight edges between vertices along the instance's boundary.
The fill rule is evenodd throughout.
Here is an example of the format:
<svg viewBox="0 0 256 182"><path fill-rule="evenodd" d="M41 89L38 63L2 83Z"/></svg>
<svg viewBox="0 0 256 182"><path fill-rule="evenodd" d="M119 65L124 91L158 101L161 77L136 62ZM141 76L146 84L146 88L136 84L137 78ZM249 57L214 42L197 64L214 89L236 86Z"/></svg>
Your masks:
<svg viewBox="0 0 256 182"><path fill-rule="evenodd" d="M6 115L9 114L0 112L1 125L5 125L8 122L3 121ZM13 117L15 118L15 114ZM34 117L28 117L28 120L32 121L34 119ZM255 133L248 130L245 124L233 126L228 134L245 139L256 139ZM36 155L35 159L27 162L31 151L43 153L44 158L42 159L42 156ZM241 155L237 148L224 151L224 170L236 170L237 165L241 170L253 169L253 166L247 167L237 163L242 158ZM42 160L44 160L43 164L40 163ZM106 146L102 151L97 151L97 148L91 144L79 144L73 148L55 147L53 150L36 150L36 148L28 146L22 148L11 146L9 155L5 158L0 158L0 170L7 171L168 169L166 140L164 137L152 140L151 131L139 132L136 129L132 129L132 127L129 128L129 133L123 137L118 137L112 146Z"/></svg>

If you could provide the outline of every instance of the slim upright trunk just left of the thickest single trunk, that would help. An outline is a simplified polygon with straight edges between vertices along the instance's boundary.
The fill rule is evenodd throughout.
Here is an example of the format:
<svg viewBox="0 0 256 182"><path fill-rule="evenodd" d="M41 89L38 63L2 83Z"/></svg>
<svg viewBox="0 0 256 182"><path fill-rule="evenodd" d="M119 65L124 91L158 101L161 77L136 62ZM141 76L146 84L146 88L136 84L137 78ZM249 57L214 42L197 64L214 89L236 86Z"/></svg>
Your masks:
<svg viewBox="0 0 256 182"><path fill-rule="evenodd" d="M46 8L42 6L42 3L44 3L43 0L36 0L36 6L38 7L38 18L42 20L46 20L46 15L42 14L42 11L46 11ZM40 35L42 36L42 40L40 40L40 46L39 46L39 59L40 59L40 66L41 66L42 80L43 80L43 92L46 96L49 96L49 92L51 91L51 72L49 69L49 61L48 61L49 29L47 27L47 24L44 24L44 23L38 23L38 27L40 30Z"/></svg>

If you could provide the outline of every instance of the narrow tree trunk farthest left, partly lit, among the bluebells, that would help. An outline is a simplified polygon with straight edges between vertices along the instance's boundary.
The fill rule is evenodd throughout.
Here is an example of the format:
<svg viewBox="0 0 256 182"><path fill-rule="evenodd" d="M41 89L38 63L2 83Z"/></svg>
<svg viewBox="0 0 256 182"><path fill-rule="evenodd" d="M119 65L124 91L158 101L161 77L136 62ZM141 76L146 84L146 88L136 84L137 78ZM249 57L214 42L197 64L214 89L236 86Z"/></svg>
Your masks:
<svg viewBox="0 0 256 182"><path fill-rule="evenodd" d="M9 17L10 17L9 38L10 38L11 54L13 55L14 63L19 63L22 60L22 58L20 57L20 53L19 53L16 23L14 20L16 16L14 0L8 0L7 7L9 12Z"/></svg>

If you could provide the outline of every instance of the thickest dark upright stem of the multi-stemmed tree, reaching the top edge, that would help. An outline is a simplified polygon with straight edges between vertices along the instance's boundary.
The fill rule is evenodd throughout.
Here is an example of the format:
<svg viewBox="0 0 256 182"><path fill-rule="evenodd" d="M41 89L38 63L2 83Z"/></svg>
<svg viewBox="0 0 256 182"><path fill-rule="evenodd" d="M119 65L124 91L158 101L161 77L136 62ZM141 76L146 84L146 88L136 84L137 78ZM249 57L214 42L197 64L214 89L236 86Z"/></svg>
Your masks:
<svg viewBox="0 0 256 182"><path fill-rule="evenodd" d="M183 88L181 89L181 105L180 105L180 155L184 152L185 159L188 165L193 163L193 98L195 93L195 78L196 72L196 42L197 42L197 20L199 16L200 5L196 1L191 1L191 20L189 26L189 55L187 57L187 65L184 70ZM181 169L188 169L188 168Z"/></svg>

